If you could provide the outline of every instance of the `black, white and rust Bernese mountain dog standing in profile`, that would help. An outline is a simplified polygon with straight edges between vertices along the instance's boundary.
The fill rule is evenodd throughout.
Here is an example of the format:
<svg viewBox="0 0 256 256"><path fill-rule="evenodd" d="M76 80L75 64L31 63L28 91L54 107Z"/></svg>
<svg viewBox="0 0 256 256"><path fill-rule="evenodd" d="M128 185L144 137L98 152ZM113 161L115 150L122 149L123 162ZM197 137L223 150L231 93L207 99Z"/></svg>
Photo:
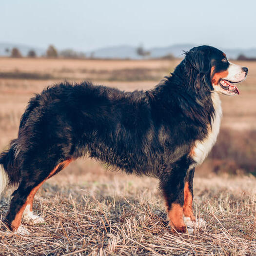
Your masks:
<svg viewBox="0 0 256 256"><path fill-rule="evenodd" d="M239 94L246 67L228 61L212 46L194 47L169 77L152 90L59 83L36 95L20 119L18 138L0 155L0 192L18 185L5 217L7 227L28 231L21 217L32 212L39 187L83 156L127 174L159 179L169 226L188 232L195 167L216 142L222 116L218 93Z"/></svg>

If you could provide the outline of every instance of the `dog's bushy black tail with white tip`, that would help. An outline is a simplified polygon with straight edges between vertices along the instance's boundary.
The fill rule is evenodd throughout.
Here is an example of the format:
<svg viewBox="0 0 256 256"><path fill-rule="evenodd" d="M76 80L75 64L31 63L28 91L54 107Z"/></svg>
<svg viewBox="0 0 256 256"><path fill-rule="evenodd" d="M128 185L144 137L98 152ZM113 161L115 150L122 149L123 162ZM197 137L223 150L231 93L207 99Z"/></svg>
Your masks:
<svg viewBox="0 0 256 256"><path fill-rule="evenodd" d="M0 154L0 196L11 185L19 183L20 170L15 159L15 140L8 151Z"/></svg>

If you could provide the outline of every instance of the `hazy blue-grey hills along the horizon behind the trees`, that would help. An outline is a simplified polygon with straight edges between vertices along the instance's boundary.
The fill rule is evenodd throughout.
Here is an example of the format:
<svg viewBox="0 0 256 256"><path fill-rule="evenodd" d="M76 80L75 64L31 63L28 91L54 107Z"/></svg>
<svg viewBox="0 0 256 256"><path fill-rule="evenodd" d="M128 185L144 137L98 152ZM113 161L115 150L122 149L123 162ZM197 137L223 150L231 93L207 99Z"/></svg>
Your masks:
<svg viewBox="0 0 256 256"><path fill-rule="evenodd" d="M166 47L153 47L150 49L146 49L150 51L151 55L149 58L161 58L168 54L172 54L177 58L182 57L183 51L188 51L189 49L193 48L194 44L175 44ZM44 55L46 49L33 47L29 45L23 44L14 44L14 43L5 43L0 42L0 56L8 56L5 52L5 49L8 48L11 50L13 47L19 48L21 54L26 56L28 51L33 49L36 51L38 56ZM59 49L60 50L60 49ZM76 50L76 49L74 49ZM228 58L236 59L240 54L243 54L247 58L256 58L256 48L236 48L236 49L221 49L223 50ZM85 52L87 57L93 58L102 58L102 59L141 59L141 56L137 54L137 47L130 46L130 45L118 45L118 46L109 46L104 48L95 49L94 51L87 51Z"/></svg>

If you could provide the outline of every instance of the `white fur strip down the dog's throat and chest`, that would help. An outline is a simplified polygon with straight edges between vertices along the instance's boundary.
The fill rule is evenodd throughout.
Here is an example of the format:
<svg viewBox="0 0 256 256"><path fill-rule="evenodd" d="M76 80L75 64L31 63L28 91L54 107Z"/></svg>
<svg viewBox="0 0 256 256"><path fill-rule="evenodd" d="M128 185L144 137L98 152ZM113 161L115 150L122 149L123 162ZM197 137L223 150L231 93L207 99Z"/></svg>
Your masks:
<svg viewBox="0 0 256 256"><path fill-rule="evenodd" d="M217 92L214 92L212 94L212 101L215 109L215 117L212 120L212 129L209 130L209 133L206 138L204 138L203 140L197 140L195 142L195 146L193 149L192 158L197 164L201 164L203 160L207 157L208 153L214 146L219 133L222 109L221 102Z"/></svg>

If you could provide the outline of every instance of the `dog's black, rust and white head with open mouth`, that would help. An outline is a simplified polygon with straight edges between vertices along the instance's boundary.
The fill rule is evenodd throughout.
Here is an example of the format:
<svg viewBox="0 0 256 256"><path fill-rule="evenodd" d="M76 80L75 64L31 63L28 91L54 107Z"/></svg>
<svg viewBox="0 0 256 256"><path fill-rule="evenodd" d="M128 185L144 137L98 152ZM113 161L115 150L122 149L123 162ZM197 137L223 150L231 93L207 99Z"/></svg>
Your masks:
<svg viewBox="0 0 256 256"><path fill-rule="evenodd" d="M186 52L184 63L190 85L197 91L204 88L226 95L239 94L236 84L248 73L248 68L229 62L222 51L206 45Z"/></svg>

